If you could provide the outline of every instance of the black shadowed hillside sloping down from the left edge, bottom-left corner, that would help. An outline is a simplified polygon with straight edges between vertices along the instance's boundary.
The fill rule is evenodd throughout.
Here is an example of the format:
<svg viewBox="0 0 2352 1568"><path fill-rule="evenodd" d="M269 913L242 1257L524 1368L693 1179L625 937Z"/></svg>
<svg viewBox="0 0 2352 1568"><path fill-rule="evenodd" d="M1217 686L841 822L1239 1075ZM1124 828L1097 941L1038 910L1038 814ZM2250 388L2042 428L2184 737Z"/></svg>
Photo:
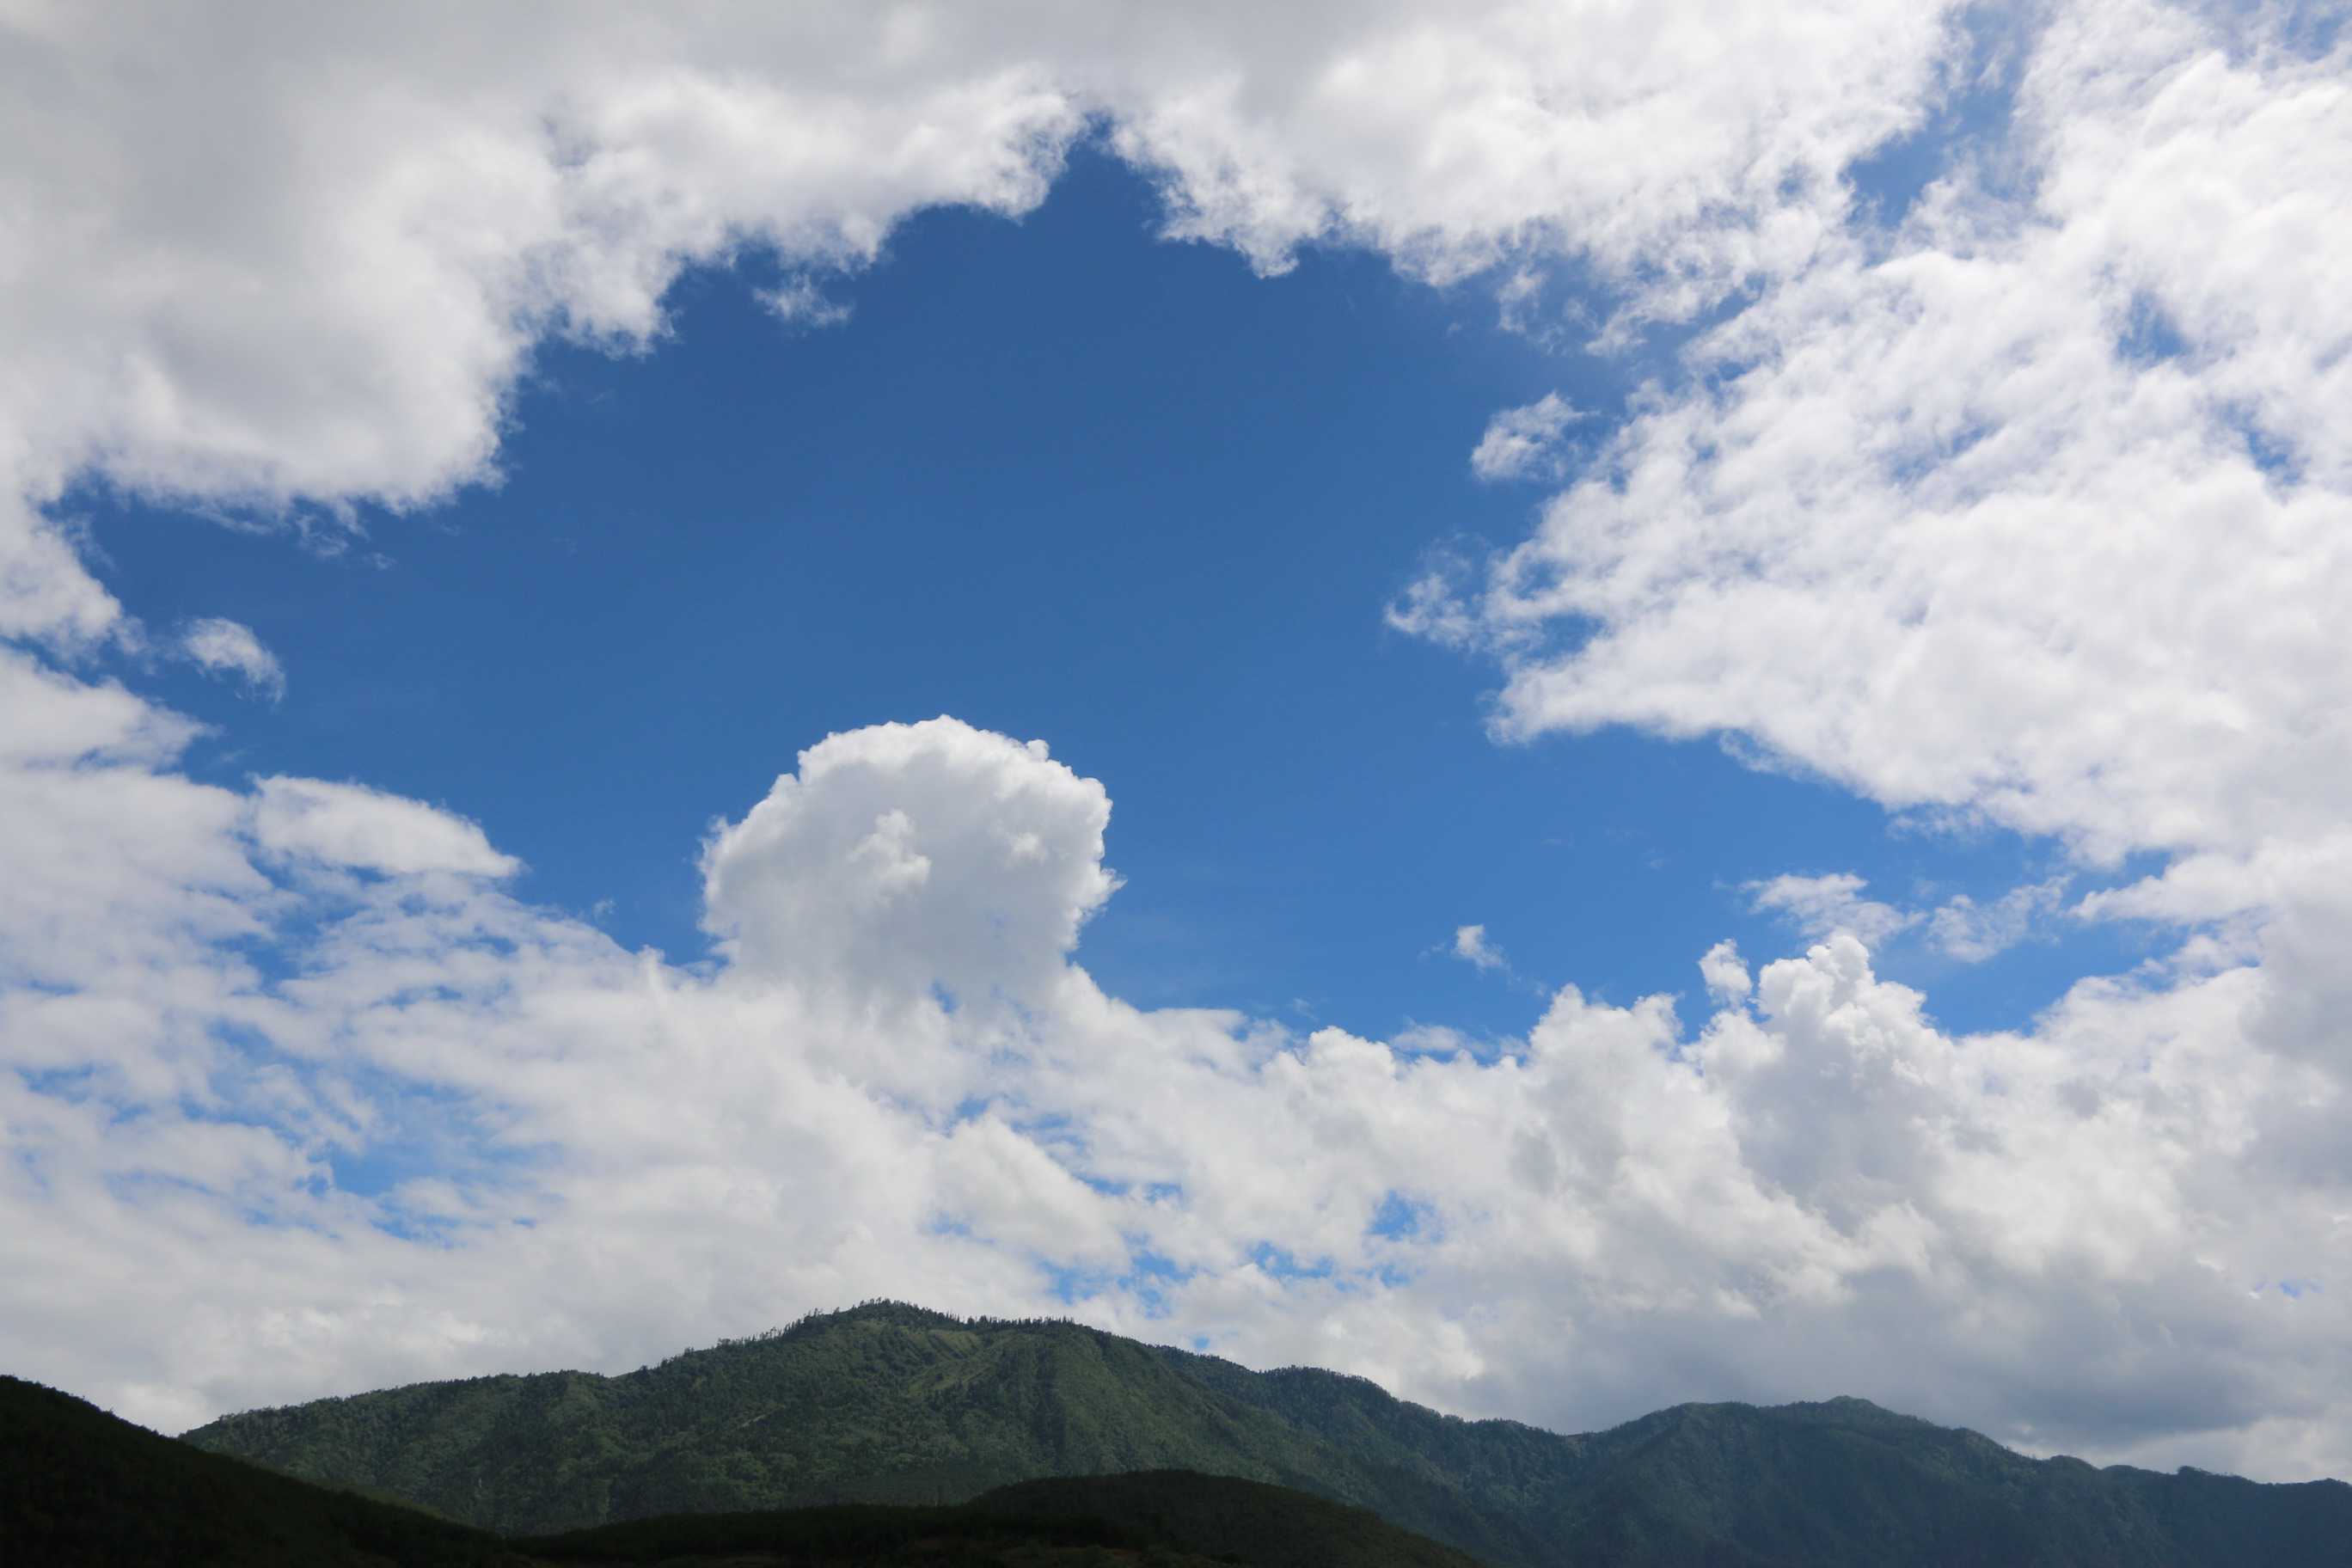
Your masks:
<svg viewBox="0 0 2352 1568"><path fill-rule="evenodd" d="M0 1378L9 1568L524 1568L485 1530L200 1453Z"/></svg>

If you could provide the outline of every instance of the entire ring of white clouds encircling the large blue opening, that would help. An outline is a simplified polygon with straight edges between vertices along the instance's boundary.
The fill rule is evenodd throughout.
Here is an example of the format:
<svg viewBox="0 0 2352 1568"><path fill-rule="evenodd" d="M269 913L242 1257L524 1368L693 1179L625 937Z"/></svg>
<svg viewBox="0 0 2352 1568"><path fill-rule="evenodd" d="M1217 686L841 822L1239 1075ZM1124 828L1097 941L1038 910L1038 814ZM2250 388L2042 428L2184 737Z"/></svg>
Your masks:
<svg viewBox="0 0 2352 1568"><path fill-rule="evenodd" d="M1853 1389L2345 1469L2347 47L2143 0L12 7L0 1354L176 1425L1058 1295L1552 1425ZM1105 788L934 719L717 827L677 969L428 804L191 780L191 724L94 672L141 632L71 482L428 505L494 475L536 343L659 343L741 249L821 310L1082 134L1261 270L1357 244L1534 331L1566 277L1604 348L1703 324L1573 454L1503 418L1482 473L1564 489L1395 611L1503 663L1503 729L1738 736L2152 856L1931 924L2171 954L1955 1039L1860 940L1917 917L1813 877L1769 896L1818 945L1712 950L1703 1020L1571 990L1470 1056L1138 1011L1073 964ZM1856 195L1922 139L1924 188ZM221 625L186 654L273 686Z"/></svg>

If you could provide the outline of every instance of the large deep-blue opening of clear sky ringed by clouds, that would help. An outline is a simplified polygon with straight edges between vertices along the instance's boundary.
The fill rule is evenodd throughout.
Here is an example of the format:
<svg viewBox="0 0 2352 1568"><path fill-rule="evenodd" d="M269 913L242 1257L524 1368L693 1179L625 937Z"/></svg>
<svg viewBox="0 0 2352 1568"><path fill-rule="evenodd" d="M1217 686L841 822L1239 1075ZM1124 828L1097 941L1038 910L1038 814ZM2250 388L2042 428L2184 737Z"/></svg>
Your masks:
<svg viewBox="0 0 2352 1568"><path fill-rule="evenodd" d="M1510 543L1545 491L1477 484L1508 407L1621 407L1628 369L1496 324L1491 294L1310 252L1284 277L1152 237L1148 181L1080 155L1042 209L910 221L786 329L746 261L680 282L654 350L541 353L503 482L360 510L341 552L82 491L125 604L252 625L278 705L188 665L202 778L353 778L520 856L522 898L673 959L701 839L826 733L953 712L1044 738L1115 802L1127 886L1077 959L1141 1006L1388 1037L1522 1034L1519 976L1696 994L1698 957L1799 947L1752 882L1990 903L2049 875L2002 835L1889 830L1818 780L1630 731L1496 743L1498 672L1390 630L1432 541ZM1976 966L1889 952L1957 1027L2023 1023L2117 929Z"/></svg>

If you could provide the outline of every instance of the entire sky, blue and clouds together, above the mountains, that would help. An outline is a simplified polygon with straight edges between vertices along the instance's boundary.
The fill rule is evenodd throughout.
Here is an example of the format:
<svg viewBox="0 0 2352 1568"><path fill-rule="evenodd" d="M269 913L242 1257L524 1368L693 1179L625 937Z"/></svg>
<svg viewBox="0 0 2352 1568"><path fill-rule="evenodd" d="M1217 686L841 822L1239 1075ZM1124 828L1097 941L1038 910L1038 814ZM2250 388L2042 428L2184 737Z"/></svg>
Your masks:
<svg viewBox="0 0 2352 1568"><path fill-rule="evenodd" d="M889 1295L2352 1472L2331 12L0 71L7 1371Z"/></svg>

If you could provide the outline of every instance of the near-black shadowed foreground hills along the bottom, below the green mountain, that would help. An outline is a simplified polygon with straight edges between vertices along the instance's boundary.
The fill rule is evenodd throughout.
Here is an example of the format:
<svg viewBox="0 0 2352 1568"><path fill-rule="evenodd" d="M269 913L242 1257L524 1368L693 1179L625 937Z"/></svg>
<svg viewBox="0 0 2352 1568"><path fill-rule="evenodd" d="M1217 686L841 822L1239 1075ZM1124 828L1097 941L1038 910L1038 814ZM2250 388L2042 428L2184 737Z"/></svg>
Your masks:
<svg viewBox="0 0 2352 1568"><path fill-rule="evenodd" d="M990 1495L976 1507L687 1514L501 1540L202 1453L71 1394L0 1378L7 1568L689 1568L710 1559L729 1568L1105 1568L1120 1559L1141 1559L1138 1568L1472 1568L1362 1509L1254 1481L1157 1472L1044 1486L1061 1490ZM1211 1549L1218 1556L1202 1554Z"/></svg>

